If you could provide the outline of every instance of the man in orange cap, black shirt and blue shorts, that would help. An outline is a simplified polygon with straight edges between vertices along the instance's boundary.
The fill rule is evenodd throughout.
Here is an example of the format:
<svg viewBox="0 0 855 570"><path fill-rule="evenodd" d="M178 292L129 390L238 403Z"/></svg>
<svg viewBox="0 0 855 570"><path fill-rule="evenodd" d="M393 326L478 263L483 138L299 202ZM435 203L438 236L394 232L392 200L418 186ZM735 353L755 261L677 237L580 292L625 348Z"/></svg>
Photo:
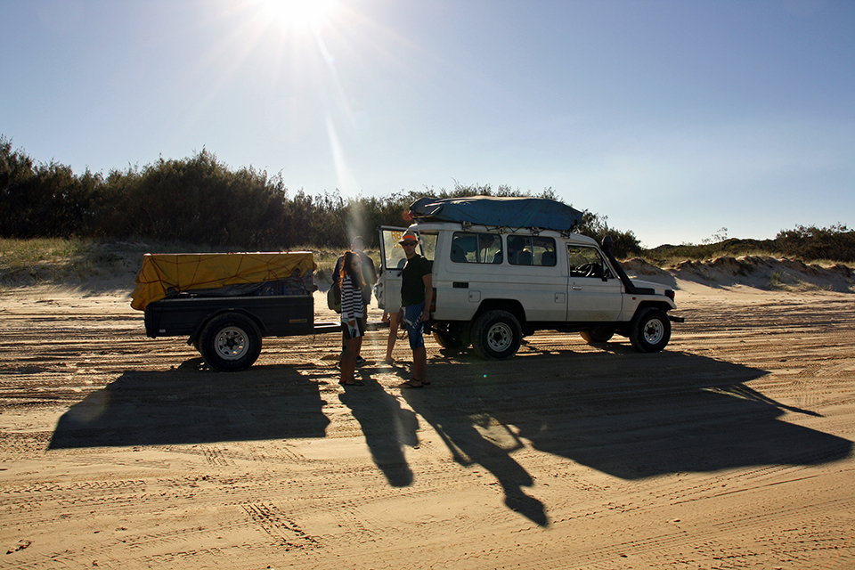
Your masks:
<svg viewBox="0 0 855 570"><path fill-rule="evenodd" d="M407 329L412 349L412 379L401 387L420 388L430 384L426 378L428 354L425 351L425 322L430 319L430 303L434 296L433 275L430 262L416 253L419 239L413 232L405 232L401 241L407 265L401 272L401 311L398 324Z"/></svg>

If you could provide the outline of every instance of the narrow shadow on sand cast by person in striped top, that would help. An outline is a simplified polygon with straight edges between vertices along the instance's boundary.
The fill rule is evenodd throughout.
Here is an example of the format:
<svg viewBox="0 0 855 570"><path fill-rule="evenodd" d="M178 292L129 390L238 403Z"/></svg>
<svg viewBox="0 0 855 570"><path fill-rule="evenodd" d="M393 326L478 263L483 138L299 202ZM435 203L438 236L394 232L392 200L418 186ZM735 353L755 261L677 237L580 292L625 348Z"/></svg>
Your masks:
<svg viewBox="0 0 855 570"><path fill-rule="evenodd" d="M419 444L416 430L419 419L401 407L401 403L387 394L379 384L365 379L365 386L345 387L338 395L359 422L365 443L371 451L374 464L386 476L389 485L412 485L412 470L403 453L403 446Z"/></svg>

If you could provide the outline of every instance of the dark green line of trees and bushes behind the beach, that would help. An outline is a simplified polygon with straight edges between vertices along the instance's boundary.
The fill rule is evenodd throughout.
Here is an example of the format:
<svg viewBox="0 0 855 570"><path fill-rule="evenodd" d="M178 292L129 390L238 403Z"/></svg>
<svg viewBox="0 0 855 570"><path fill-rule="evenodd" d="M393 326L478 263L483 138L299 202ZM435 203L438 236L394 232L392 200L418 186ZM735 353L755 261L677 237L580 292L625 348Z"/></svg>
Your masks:
<svg viewBox="0 0 855 570"><path fill-rule="evenodd" d="M399 191L383 197L344 198L338 191L289 191L281 175L253 167L232 169L202 149L186 159L159 159L145 167L88 168L74 175L54 160L37 163L0 135L0 237L181 241L255 250L346 248L354 235L376 247L376 228L407 223L403 213L425 195L535 196L558 199L552 189L533 195L501 185L461 185L451 190ZM722 228L723 229L723 228ZM598 242L611 235L615 256L704 258L766 251L770 255L855 261L855 232L797 226L775 240L721 240L701 245L641 248L631 231L609 227L607 216L582 210L576 229ZM723 236L722 236L723 237Z"/></svg>

